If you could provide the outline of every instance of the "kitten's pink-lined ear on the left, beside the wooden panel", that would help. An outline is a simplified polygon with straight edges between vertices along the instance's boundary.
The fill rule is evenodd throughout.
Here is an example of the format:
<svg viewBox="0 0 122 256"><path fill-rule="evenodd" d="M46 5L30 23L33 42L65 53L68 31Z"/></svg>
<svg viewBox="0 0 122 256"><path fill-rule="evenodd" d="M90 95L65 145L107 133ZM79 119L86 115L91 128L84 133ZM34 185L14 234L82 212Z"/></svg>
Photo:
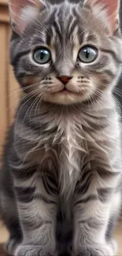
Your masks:
<svg viewBox="0 0 122 256"><path fill-rule="evenodd" d="M9 0L9 15L13 31L24 32L28 23L38 16L45 3L42 0Z"/></svg>

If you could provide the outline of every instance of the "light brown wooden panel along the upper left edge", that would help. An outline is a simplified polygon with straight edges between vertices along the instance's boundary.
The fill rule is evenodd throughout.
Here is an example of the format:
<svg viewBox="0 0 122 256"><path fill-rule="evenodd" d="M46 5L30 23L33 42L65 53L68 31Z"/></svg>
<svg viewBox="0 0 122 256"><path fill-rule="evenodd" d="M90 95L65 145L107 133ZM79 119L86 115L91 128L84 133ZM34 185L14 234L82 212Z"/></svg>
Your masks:
<svg viewBox="0 0 122 256"><path fill-rule="evenodd" d="M6 129L13 119L18 102L18 84L9 65L9 10L6 0L0 0L0 159Z"/></svg>

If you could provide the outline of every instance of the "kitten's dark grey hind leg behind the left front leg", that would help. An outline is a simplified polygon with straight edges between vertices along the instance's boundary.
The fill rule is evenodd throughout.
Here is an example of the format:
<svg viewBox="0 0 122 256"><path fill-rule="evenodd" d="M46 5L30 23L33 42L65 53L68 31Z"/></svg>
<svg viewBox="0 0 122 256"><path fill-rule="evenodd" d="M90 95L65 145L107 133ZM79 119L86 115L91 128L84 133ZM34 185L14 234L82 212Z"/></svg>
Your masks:
<svg viewBox="0 0 122 256"><path fill-rule="evenodd" d="M20 243L22 232L17 212L17 200L13 192L13 178L9 172L6 173L6 169L2 169L1 173L0 217L9 231L9 240L5 245L5 250L10 251L13 245Z"/></svg>

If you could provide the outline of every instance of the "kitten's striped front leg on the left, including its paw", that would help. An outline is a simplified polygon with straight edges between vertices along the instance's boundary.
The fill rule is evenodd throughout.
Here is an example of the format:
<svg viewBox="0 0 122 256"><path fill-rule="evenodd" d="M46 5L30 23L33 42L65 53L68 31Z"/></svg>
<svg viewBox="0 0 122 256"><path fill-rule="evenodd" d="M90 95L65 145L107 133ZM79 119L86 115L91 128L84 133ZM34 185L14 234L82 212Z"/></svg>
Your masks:
<svg viewBox="0 0 122 256"><path fill-rule="evenodd" d="M57 187L50 177L35 173L27 180L15 179L14 189L23 240L12 251L15 256L56 254L55 224Z"/></svg>

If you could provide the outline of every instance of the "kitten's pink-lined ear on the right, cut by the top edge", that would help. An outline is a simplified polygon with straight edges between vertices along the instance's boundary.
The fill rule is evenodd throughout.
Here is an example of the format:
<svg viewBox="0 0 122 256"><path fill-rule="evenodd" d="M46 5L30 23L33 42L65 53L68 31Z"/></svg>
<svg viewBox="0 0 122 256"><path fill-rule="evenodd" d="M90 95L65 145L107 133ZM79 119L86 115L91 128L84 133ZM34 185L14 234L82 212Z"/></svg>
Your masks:
<svg viewBox="0 0 122 256"><path fill-rule="evenodd" d="M119 18L120 0L85 0L84 5L100 6L100 9L105 9L112 31L116 29L116 23ZM99 9L99 11L100 11Z"/></svg>

